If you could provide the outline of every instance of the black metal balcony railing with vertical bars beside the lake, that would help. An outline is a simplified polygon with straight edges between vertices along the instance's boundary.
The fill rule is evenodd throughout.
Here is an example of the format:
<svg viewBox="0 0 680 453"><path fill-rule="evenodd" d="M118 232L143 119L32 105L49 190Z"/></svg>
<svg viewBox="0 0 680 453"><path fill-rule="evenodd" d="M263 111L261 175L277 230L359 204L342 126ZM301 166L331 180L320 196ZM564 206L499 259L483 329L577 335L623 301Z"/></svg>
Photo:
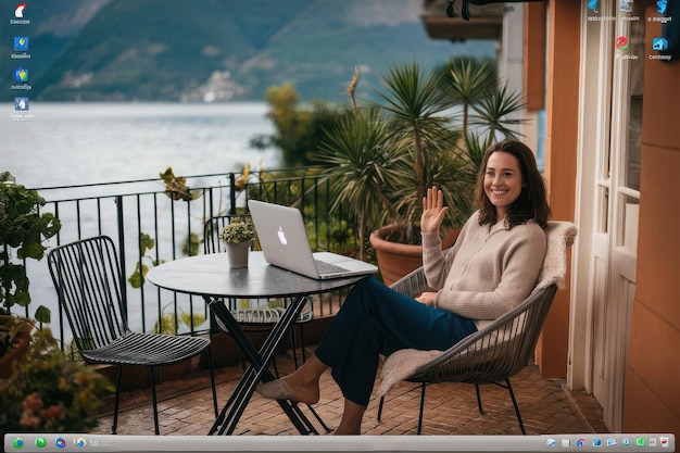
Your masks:
<svg viewBox="0 0 680 453"><path fill-rule="evenodd" d="M318 168L255 173L248 178L235 173L189 176L186 186L190 197L181 189L166 190L161 179L38 189L47 200L42 211L52 212L62 223L60 232L49 240L50 248L97 235L114 240L133 330L185 335L207 330L202 298L161 290L143 281L139 270L203 253L204 222L244 209L250 198L299 207L313 250L342 253L356 249L351 219L344 218L341 210L329 212L330 181ZM59 307L47 260L27 260L25 264L32 304L28 309L15 306L13 312L30 317L37 305L48 306L53 334L67 348L72 335ZM332 315L342 295L315 294L315 314Z"/></svg>

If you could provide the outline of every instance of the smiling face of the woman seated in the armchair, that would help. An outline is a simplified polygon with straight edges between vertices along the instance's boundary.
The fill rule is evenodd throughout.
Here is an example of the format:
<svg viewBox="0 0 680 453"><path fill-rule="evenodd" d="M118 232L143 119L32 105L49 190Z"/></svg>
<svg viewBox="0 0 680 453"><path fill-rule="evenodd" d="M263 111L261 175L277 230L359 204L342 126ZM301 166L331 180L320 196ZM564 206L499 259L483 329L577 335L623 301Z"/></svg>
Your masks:
<svg viewBox="0 0 680 453"><path fill-rule="evenodd" d="M484 193L495 206L498 221L507 216L511 204L521 193L522 185L519 162L513 154L496 151L489 156L484 174Z"/></svg>

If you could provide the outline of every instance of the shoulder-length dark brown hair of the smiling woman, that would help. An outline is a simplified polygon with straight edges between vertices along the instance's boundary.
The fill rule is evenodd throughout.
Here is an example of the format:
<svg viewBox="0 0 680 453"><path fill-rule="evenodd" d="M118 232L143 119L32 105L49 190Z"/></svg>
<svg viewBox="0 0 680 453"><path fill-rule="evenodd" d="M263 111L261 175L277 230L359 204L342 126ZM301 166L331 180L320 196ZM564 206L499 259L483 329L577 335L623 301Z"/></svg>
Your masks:
<svg viewBox="0 0 680 453"><path fill-rule="evenodd" d="M484 156L477 173L477 187L475 189L475 201L479 206L479 225L495 225L495 206L491 203L484 192L484 175L489 158L494 152L506 152L517 159L521 172L522 188L517 200L509 206L509 213L505 222L512 228L515 225L526 224L534 221L545 228L550 218L550 205L547 204L547 192L545 181L536 164L536 158L531 149L517 140L503 140L492 144L484 152Z"/></svg>

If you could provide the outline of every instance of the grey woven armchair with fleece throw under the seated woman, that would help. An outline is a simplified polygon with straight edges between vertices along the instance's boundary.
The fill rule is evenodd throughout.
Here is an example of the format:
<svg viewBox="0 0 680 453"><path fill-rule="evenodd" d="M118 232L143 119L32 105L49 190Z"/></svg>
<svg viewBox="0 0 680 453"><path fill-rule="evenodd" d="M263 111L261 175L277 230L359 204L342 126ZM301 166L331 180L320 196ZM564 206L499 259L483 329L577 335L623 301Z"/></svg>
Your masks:
<svg viewBox="0 0 680 453"><path fill-rule="evenodd" d="M519 406L509 378L518 374L533 357L543 323L557 288L564 287L566 249L576 236L576 227L567 222L550 222L546 229L547 251L539 284L514 310L491 325L466 337L446 351L401 350L390 355L382 369L378 420L381 419L385 393L399 380L420 383L418 435L423 428L425 389L436 382L474 383L479 413L482 414L479 386L492 383L505 388L513 401L515 415L526 435ZM416 269L392 285L410 297L428 289L423 268Z"/></svg>

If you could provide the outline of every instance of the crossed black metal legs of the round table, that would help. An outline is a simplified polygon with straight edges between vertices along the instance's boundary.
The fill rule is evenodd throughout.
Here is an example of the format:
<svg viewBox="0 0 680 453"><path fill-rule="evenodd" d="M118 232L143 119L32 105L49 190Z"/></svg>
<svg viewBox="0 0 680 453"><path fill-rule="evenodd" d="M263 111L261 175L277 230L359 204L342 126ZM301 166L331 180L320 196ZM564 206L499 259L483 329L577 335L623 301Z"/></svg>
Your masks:
<svg viewBox="0 0 680 453"><path fill-rule="evenodd" d="M215 316L219 317L219 320L229 329L229 335L231 335L234 341L250 362L250 366L243 374L243 377L241 377L236 390L229 397L229 400L221 411L209 432L209 436L215 432L221 436L231 435L248 402L252 398L257 383L260 383L260 381L274 379L274 375L267 369L267 365L274 357L276 349L282 338L300 315L305 303L305 298L297 297L292 300L291 304L284 313L284 316L281 316L279 322L273 327L260 351L255 349L252 341L245 336L241 326L221 300L215 300L210 297L204 297L204 299L210 310L212 310ZM301 435L318 433L297 404L290 403L289 401L277 402Z"/></svg>

